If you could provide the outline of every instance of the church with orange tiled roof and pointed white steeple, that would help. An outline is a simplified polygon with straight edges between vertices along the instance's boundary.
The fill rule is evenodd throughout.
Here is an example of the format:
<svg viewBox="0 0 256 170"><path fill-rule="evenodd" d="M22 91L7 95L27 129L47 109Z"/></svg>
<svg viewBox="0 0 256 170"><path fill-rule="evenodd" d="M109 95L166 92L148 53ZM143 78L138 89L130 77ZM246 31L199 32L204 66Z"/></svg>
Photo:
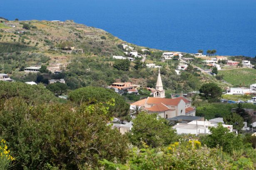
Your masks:
<svg viewBox="0 0 256 170"><path fill-rule="evenodd" d="M158 70L157 84L153 90L154 97L147 97L131 104L143 107L149 114L157 113L162 118L172 118L176 116L196 116L196 109L191 107L191 102L183 96L167 99L162 84L160 69Z"/></svg>

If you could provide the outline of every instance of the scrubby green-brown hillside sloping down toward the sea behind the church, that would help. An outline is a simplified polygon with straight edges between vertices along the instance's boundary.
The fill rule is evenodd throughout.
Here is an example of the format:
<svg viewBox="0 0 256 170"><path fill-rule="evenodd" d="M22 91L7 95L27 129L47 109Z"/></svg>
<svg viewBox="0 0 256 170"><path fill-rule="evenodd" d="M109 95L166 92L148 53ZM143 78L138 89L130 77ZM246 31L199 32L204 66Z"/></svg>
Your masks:
<svg viewBox="0 0 256 170"><path fill-rule="evenodd" d="M140 59L124 64L114 60L113 55L124 56L124 41L102 29L87 27L73 21L5 21L0 25L0 73L10 74L18 81L37 81L38 74L25 73L28 66L47 65L49 70L63 65L60 75L42 74L45 82L51 78L65 78L69 89L79 87L110 85L116 80L132 81L144 87L154 87L156 68L147 68ZM128 43L129 44L129 43ZM181 71L176 75L179 61L161 62L163 51L129 44L138 53L147 55L146 63L162 66L164 87L171 93L199 90L205 82L216 81L222 87L226 84L209 78L196 70ZM71 50L75 48L76 50ZM168 66L168 68L167 68Z"/></svg>

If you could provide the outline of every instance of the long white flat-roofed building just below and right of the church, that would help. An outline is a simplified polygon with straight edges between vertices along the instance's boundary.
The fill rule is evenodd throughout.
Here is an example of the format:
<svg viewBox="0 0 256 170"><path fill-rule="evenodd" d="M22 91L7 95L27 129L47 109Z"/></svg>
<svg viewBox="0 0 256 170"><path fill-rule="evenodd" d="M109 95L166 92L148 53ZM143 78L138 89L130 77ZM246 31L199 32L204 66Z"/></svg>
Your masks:
<svg viewBox="0 0 256 170"><path fill-rule="evenodd" d="M211 124L210 121L191 121L187 124L178 123L173 126L176 129L177 134L210 134L209 127L217 127L217 124ZM233 125L222 124L222 126L229 129L230 132L233 131Z"/></svg>

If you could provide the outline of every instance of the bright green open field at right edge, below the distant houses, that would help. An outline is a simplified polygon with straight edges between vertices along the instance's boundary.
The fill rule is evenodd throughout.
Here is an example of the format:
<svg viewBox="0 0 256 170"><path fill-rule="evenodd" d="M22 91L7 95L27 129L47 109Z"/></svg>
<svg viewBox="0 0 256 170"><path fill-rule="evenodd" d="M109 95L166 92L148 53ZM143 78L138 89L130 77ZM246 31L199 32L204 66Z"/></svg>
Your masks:
<svg viewBox="0 0 256 170"><path fill-rule="evenodd" d="M234 86L247 87L256 81L256 69L251 68L221 70L219 74L224 75L223 79Z"/></svg>

